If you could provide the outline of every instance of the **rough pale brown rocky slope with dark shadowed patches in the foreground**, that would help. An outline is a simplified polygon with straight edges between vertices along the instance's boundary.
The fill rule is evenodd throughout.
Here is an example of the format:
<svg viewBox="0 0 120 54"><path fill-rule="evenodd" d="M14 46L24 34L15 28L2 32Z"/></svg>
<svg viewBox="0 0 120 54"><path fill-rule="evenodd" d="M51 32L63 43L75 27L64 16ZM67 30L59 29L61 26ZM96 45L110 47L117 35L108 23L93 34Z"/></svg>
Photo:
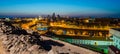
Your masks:
<svg viewBox="0 0 120 54"><path fill-rule="evenodd" d="M0 54L97 54L97 52L41 36L0 22Z"/></svg>

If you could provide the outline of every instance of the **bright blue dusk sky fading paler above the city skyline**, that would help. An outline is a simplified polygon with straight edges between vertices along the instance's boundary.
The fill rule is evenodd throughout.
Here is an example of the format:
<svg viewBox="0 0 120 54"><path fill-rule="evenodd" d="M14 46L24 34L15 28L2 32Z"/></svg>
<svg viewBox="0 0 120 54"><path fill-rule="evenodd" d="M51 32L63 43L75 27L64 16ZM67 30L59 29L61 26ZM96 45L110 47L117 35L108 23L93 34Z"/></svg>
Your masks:
<svg viewBox="0 0 120 54"><path fill-rule="evenodd" d="M120 15L120 0L0 0L0 15Z"/></svg>

